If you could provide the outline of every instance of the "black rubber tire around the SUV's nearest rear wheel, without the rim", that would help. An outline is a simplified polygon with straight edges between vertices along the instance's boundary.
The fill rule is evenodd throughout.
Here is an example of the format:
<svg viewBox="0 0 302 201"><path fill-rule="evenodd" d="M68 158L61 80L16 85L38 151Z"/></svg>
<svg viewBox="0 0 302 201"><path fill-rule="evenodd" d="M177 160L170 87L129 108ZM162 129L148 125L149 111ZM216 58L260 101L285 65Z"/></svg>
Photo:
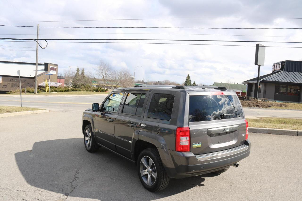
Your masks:
<svg viewBox="0 0 302 201"><path fill-rule="evenodd" d="M144 156L148 156L150 157L152 160L153 160L153 163L155 165L155 168L156 168L156 180L154 182L154 184L152 186L149 186L147 185L144 181L143 181L143 178L142 176L140 175L140 160L144 157ZM161 161L160 161L161 162ZM153 153L148 151L148 149L145 149L143 150L139 157L138 157L138 160L137 160L137 172L138 172L138 176L140 178L140 182L143 184L143 186L149 190L149 191L156 191L157 188L159 187L159 182L161 180L161 175L162 175L162 172L161 172L161 168L159 167L159 161L156 159L156 157L154 157Z"/></svg>

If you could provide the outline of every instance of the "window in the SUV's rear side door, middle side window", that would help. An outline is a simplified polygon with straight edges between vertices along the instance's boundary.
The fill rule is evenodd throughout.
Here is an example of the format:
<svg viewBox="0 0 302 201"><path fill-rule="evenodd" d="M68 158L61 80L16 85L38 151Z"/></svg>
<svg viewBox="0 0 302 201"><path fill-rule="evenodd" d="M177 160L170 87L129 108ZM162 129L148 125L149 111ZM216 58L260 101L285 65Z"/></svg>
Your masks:
<svg viewBox="0 0 302 201"><path fill-rule="evenodd" d="M141 116L145 99L146 94L129 93L122 113Z"/></svg>

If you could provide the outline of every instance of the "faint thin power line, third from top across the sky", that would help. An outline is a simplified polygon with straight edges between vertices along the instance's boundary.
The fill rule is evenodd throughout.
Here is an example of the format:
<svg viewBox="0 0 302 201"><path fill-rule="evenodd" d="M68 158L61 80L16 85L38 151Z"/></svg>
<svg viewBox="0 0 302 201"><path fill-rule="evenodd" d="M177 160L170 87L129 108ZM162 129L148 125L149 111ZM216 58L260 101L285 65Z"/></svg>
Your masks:
<svg viewBox="0 0 302 201"><path fill-rule="evenodd" d="M258 36L258 35L233 35L233 34L167 34L167 33L74 33L74 34L39 34L39 35L81 35L81 34L152 34L152 35L205 35L205 36L251 36L251 37L289 37L302 38L302 36ZM0 34L0 35L36 35L36 34Z"/></svg>

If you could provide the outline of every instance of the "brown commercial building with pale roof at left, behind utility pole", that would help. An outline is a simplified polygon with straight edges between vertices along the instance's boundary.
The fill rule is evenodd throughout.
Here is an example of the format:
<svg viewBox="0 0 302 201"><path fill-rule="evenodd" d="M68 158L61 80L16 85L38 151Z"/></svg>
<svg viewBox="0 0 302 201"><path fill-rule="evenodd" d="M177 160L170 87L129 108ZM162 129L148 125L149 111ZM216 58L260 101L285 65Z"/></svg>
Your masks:
<svg viewBox="0 0 302 201"><path fill-rule="evenodd" d="M34 87L35 63L0 61L0 91L15 91L20 88L18 70L20 70L21 75L21 88ZM53 75L46 75L49 72ZM45 79L48 81L50 78L50 86L54 86L57 83L57 74L57 64L39 63L38 85L45 85ZM59 85L61 84L59 83Z"/></svg>

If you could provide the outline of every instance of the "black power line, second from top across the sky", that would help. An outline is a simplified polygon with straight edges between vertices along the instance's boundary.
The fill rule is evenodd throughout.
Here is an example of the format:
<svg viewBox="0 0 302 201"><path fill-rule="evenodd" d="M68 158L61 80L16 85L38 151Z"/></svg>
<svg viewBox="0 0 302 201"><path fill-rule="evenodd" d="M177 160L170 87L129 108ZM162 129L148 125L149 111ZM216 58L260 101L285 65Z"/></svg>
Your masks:
<svg viewBox="0 0 302 201"><path fill-rule="evenodd" d="M2 27L37 27L37 26L15 26L15 25L0 25ZM225 27L46 27L43 28L155 28L155 29L302 29L302 28L225 28Z"/></svg>

